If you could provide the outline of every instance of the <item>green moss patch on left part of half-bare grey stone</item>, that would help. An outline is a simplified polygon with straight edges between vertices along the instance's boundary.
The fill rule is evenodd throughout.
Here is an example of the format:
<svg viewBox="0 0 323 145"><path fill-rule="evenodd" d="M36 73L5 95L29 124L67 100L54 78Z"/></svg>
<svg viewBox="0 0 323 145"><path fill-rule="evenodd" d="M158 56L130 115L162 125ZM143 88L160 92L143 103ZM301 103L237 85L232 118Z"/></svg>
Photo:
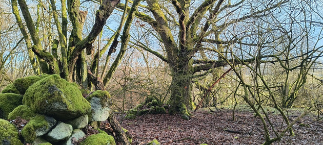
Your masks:
<svg viewBox="0 0 323 145"><path fill-rule="evenodd" d="M28 143L32 143L36 139L36 130L46 127L48 129L48 122L44 115L37 115L32 117L27 125L22 130L22 136Z"/></svg>

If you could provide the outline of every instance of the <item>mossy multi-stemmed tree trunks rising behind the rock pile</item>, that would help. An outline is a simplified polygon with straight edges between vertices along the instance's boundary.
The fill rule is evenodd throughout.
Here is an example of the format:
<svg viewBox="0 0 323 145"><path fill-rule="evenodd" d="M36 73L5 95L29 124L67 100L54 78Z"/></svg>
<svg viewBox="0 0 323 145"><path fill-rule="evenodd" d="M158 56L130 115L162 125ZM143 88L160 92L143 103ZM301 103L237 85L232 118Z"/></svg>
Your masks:
<svg viewBox="0 0 323 145"><path fill-rule="evenodd" d="M84 50L86 48L89 50L94 49L92 43L102 31L107 18L111 15L117 3L119 3L119 0L106 0L102 2L99 10L96 11L95 23L91 32L87 37L85 37L85 39L83 39L82 31L87 11L79 10L80 1L61 0L62 6L60 6L60 8L62 8L62 11L59 13L59 11L56 10L55 1L51 0L50 7L52 9L52 15L57 28L59 41L54 41L55 43L53 43L52 48L53 52L50 54L43 50L42 42L37 31L39 28L36 28L34 25L26 1L12 0L12 11L25 38L34 73L36 75L41 73L60 74L62 78L68 81L78 80L80 85L87 88L87 61ZM23 20L20 17L18 5L21 8L28 31L25 29ZM69 21L67 13L69 14ZM61 20L59 20L59 16L61 16ZM39 17L37 20L39 20ZM67 42L67 26L69 22L72 24L72 31L69 37L69 42ZM37 21L37 23L39 22ZM58 45L60 45L60 47L58 47ZM58 51L57 48L60 48L60 51ZM60 57L58 57L57 52L61 53ZM104 52L102 52L102 54L103 53ZM34 57L34 55L37 57ZM38 62L39 64L37 64ZM77 66L77 69L75 69L75 66ZM73 76L76 78L73 78Z"/></svg>

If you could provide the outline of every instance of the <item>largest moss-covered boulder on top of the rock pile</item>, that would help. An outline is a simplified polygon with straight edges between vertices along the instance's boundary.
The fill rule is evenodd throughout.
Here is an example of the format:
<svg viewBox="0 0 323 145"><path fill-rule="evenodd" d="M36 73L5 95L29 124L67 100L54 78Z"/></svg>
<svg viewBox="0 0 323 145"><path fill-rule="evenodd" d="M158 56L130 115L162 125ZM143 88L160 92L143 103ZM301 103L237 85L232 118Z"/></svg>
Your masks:
<svg viewBox="0 0 323 145"><path fill-rule="evenodd" d="M50 75L31 85L23 104L39 114L46 114L58 120L68 120L91 112L90 103L83 98L77 87Z"/></svg>

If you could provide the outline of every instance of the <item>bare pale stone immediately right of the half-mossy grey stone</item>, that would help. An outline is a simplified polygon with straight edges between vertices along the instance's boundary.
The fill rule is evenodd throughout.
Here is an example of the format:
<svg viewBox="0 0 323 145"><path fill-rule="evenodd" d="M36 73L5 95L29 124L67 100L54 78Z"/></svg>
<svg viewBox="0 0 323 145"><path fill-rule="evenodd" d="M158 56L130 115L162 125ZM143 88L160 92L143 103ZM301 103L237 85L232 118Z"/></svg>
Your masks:
<svg viewBox="0 0 323 145"><path fill-rule="evenodd" d="M58 142L60 140L67 139L73 131L73 128L69 124L58 122L55 128L48 132L44 138L50 142Z"/></svg>

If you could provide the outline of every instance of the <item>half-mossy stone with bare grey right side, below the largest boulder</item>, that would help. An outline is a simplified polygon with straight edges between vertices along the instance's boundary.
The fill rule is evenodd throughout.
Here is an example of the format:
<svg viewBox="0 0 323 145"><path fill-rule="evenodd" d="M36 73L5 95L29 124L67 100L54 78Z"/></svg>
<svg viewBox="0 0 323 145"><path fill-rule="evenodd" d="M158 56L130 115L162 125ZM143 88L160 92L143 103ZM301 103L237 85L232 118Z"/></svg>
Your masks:
<svg viewBox="0 0 323 145"><path fill-rule="evenodd" d="M56 120L46 115L36 115L32 117L27 125L22 130L22 136L28 143L32 143L37 137L42 136L49 132Z"/></svg>

